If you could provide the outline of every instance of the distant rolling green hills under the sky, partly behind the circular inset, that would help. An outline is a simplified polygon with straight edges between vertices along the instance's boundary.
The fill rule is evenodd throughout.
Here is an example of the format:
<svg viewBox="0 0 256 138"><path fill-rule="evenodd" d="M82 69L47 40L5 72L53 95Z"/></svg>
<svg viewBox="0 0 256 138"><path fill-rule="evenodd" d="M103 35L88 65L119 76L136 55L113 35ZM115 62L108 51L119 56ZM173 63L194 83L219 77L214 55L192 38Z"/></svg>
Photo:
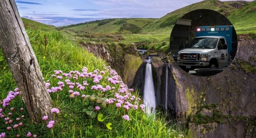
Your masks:
<svg viewBox="0 0 256 138"><path fill-rule="evenodd" d="M122 33L122 34L170 34L177 19L185 13L196 9L211 9L225 15L234 25L238 34L249 30L254 33L256 19L256 2L205 0L172 11L159 19L123 18L104 19L77 25L65 26L66 30L76 33ZM242 16L241 16L242 15Z"/></svg>

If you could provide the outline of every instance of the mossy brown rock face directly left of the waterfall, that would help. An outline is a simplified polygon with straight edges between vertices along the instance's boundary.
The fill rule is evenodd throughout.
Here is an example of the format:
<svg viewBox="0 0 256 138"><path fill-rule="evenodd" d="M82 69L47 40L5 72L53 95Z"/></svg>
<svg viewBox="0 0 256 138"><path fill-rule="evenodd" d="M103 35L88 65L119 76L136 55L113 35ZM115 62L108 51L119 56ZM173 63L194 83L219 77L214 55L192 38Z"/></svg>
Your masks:
<svg viewBox="0 0 256 138"><path fill-rule="evenodd" d="M130 87L142 64L134 44L124 43L80 43L88 52L103 58Z"/></svg>

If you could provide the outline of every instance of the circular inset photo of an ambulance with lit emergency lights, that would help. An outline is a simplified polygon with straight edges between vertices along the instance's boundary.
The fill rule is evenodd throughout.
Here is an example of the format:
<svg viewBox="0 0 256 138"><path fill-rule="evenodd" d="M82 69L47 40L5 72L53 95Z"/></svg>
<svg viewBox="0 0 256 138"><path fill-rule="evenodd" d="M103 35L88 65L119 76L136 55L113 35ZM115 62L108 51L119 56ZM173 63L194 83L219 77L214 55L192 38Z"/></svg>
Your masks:
<svg viewBox="0 0 256 138"><path fill-rule="evenodd" d="M174 25L170 51L180 68L192 75L222 72L237 51L237 34L221 13L208 9L190 11Z"/></svg>

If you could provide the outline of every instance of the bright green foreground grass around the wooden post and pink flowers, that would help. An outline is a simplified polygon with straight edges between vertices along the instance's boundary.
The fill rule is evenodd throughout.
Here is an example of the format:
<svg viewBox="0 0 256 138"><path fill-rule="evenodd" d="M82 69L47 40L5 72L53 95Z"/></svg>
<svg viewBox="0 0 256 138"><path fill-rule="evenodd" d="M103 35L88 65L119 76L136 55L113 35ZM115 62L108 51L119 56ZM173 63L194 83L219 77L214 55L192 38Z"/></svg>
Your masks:
<svg viewBox="0 0 256 138"><path fill-rule="evenodd" d="M57 79L51 77L54 70L62 70L63 72L69 72L70 70L81 71L84 66L88 67L89 71L95 69L104 70L104 64L106 63L101 58L89 54L85 49L77 45L76 42L72 42L68 37L65 37L62 31L54 28L48 30L48 27L46 26L43 29L28 27L26 31L41 67L42 74L45 80L50 80L51 85L56 86L58 82ZM44 36L48 38L47 47L44 47ZM45 58L43 58L44 56ZM2 100L6 97L8 91L15 88L15 81L12 79L12 74L5 58L3 58L2 52L0 52L0 59L0 99ZM101 83L107 84L108 82L104 79ZM96 94L89 88L85 92L89 95ZM13 113L11 119L15 120L15 118L20 118L21 115L24 115L25 119L22 119L23 127L20 130L12 129L7 131L7 125L3 125L5 121L1 119L0 132L6 132L8 138L16 137L16 134L22 134L22 137L24 137L27 132L37 134L42 138L169 138L178 137L181 133L181 131L177 131L179 128L176 125L165 122L164 116L160 114L156 114L156 117L153 119L152 117L145 117L141 111L130 110L129 112L124 112L123 109L116 110L115 105L107 105L105 108L103 105L100 105L102 109L97 114L99 112L102 113L106 119L103 122L99 122L97 117L90 118L83 112L83 109L88 108L90 105L98 105L96 102L89 102L81 98L70 99L67 89L51 93L51 98L54 107L59 108L61 111L58 114L57 123L52 131L47 129L43 123L37 124L32 122L26 110L20 112L19 109L25 107L25 105L21 97L17 96L5 112L11 112L9 108L15 107L16 112ZM129 114L132 120L123 120L122 115L124 113ZM106 128L105 124L108 122L112 123L112 130Z"/></svg>

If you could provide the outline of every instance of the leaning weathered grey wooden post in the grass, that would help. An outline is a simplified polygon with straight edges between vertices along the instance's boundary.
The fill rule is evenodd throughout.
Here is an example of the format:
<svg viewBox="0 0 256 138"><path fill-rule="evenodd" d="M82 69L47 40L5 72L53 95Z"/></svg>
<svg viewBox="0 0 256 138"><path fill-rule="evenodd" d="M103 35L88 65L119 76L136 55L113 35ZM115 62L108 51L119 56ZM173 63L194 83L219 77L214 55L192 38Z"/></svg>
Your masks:
<svg viewBox="0 0 256 138"><path fill-rule="evenodd" d="M14 0L0 2L0 46L31 119L52 119L51 97Z"/></svg>

